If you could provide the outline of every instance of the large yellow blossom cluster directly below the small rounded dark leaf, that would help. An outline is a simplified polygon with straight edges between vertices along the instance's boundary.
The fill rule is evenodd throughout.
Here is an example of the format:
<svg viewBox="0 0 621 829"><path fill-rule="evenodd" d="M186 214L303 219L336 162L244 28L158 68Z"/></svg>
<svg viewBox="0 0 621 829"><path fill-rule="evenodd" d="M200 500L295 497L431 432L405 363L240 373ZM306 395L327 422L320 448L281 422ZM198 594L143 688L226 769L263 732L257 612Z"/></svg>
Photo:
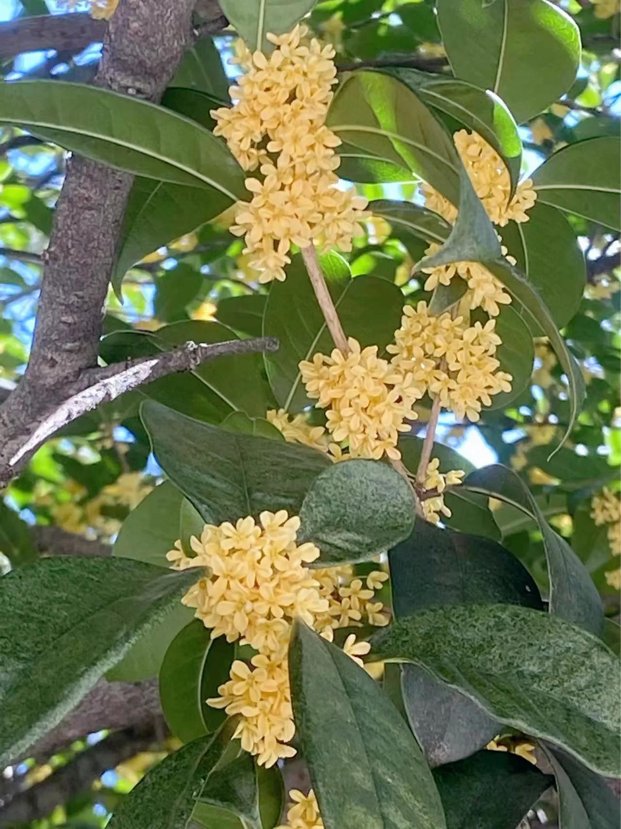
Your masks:
<svg viewBox="0 0 621 829"><path fill-rule="evenodd" d="M257 651L250 665L233 662L230 680L208 703L241 715L235 736L266 766L296 753L287 744L295 733L286 663L293 619L300 618L330 641L336 628L361 625L363 614L372 624L388 622L369 586L381 587L388 576L370 574L364 589L360 579L352 578L351 568L309 570L320 551L312 544L296 544L299 527L300 519L284 510L265 511L259 523L248 516L234 525L206 525L200 539L190 540L192 557L185 555L181 541L166 555L176 570L209 570L182 601L195 608L211 638L225 636ZM359 657L369 647L349 637L344 651Z"/></svg>

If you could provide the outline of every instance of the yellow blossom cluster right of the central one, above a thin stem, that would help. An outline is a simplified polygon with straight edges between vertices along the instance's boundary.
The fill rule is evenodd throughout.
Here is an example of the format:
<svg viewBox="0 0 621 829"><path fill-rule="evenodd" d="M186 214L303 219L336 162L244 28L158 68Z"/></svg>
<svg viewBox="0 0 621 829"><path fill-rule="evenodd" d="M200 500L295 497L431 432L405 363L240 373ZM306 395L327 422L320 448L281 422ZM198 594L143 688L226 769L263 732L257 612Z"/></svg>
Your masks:
<svg viewBox="0 0 621 829"><path fill-rule="evenodd" d="M494 356L502 342L495 333L495 320L484 326L475 322L466 327L463 318L450 313L434 317L425 302L416 308L403 308L401 327L395 344L388 346L392 365L403 375L412 376L419 396L429 392L440 398L440 405L462 419L477 421L483 405L492 395L511 390L512 376L498 371Z"/></svg>

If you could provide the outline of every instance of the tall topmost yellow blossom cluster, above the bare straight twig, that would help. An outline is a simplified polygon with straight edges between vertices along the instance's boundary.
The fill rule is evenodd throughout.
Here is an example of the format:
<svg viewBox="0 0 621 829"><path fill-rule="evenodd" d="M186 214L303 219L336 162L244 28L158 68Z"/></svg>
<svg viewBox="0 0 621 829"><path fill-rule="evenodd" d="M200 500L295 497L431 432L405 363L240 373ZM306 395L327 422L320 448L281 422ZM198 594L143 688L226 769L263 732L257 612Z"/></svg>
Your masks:
<svg viewBox="0 0 621 829"><path fill-rule="evenodd" d="M335 169L340 139L325 126L336 83L332 46L308 38L305 26L285 35L267 35L271 55L241 45L235 59L244 70L231 87L233 107L211 113L248 177L252 201L240 202L230 230L243 235L244 254L258 281L285 279L291 245L317 244L351 250L363 233L359 224L367 200L354 189L339 189Z"/></svg>

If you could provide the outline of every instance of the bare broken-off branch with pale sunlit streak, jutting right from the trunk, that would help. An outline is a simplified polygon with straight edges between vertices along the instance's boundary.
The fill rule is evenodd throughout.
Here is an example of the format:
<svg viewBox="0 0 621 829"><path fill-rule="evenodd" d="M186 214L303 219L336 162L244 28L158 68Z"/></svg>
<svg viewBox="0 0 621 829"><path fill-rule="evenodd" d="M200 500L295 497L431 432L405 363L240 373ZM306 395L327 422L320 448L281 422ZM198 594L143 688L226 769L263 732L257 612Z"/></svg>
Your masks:
<svg viewBox="0 0 621 829"><path fill-rule="evenodd" d="M249 354L253 351L277 351L277 348L278 341L274 337L216 342L212 345L205 342L185 342L173 351L113 363L104 368L87 369L74 384L65 387L65 394L68 395L66 399L49 410L36 424L30 437L7 459L4 466L0 465L0 486L6 486L12 476L52 434L79 418L81 414L96 409L102 403L116 400L138 385L147 385L180 371L192 371L200 363L214 360L219 356ZM17 389L19 388L20 386L17 386Z"/></svg>

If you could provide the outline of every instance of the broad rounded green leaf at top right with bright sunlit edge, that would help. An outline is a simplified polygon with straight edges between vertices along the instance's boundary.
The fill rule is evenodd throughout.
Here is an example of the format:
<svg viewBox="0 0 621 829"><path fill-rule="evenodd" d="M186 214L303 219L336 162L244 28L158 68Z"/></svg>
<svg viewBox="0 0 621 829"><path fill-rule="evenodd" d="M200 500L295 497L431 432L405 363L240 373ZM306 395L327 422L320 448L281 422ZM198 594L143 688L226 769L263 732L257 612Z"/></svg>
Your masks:
<svg viewBox="0 0 621 829"><path fill-rule="evenodd" d="M580 31L547 0L438 0L457 78L497 93L518 124L564 95L580 65Z"/></svg>

